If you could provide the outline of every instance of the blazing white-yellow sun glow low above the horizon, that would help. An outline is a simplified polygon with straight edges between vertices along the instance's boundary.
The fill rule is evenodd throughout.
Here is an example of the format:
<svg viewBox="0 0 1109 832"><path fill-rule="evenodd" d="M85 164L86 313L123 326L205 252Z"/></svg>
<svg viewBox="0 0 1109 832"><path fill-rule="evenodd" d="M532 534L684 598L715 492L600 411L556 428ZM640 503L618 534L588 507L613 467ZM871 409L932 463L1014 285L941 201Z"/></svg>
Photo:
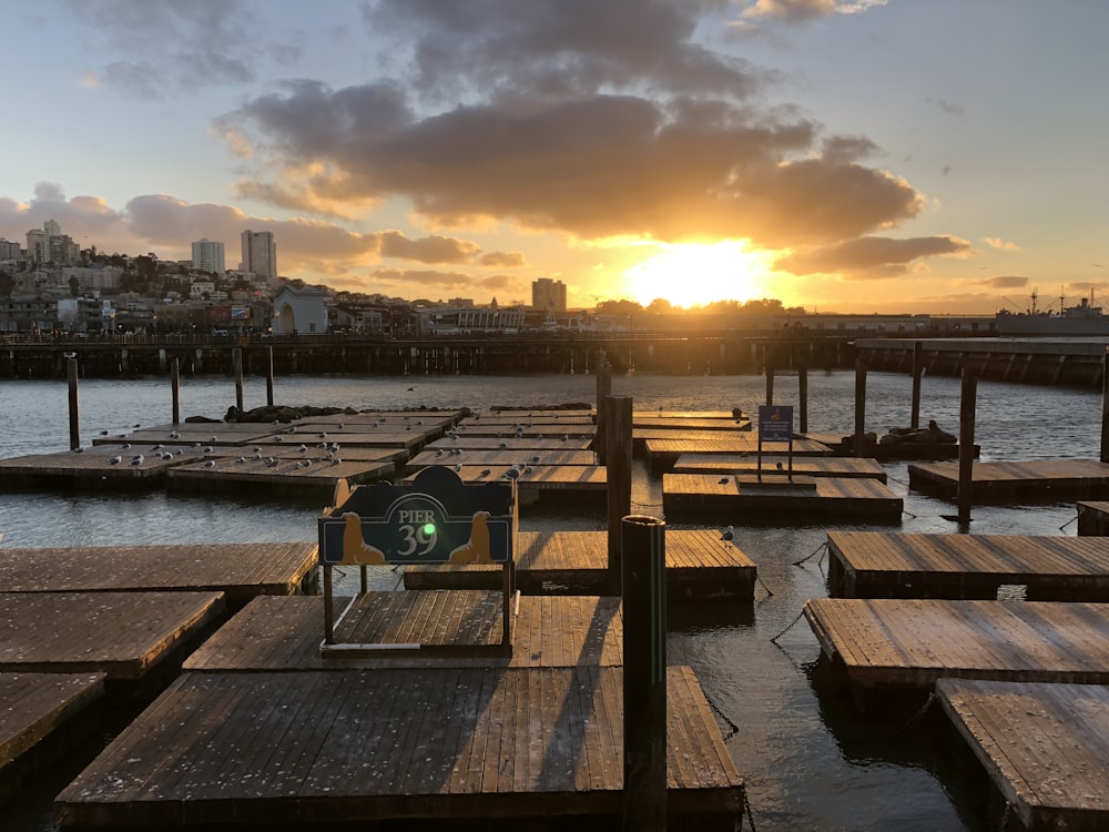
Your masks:
<svg viewBox="0 0 1109 832"><path fill-rule="evenodd" d="M689 308L713 301L766 296L771 252L750 251L743 241L662 244L662 251L624 270L629 292L644 306L663 298Z"/></svg>

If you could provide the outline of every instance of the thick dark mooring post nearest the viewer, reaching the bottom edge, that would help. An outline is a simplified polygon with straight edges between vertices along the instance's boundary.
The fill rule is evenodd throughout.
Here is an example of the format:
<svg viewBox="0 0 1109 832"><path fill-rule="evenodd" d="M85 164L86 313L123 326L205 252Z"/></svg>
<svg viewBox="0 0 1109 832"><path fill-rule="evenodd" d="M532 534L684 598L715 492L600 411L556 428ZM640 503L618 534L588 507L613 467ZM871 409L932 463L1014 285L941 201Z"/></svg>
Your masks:
<svg viewBox="0 0 1109 832"><path fill-rule="evenodd" d="M667 525L624 517L623 700L625 832L667 829Z"/></svg>

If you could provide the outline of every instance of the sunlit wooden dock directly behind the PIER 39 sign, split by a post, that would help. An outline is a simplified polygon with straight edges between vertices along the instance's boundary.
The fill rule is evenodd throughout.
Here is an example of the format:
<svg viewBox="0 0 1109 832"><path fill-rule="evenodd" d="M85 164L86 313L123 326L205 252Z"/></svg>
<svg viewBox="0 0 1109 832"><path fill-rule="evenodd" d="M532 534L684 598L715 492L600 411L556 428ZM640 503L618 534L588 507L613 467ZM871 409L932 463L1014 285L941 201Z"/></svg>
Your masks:
<svg viewBox="0 0 1109 832"><path fill-rule="evenodd" d="M667 544L667 596L682 599L754 598L755 565L736 546L723 545L720 531L670 529ZM607 531L521 531L516 552L516 584L525 595L606 595L614 581L608 564ZM480 566L409 566L408 589L497 586L500 570Z"/></svg>

